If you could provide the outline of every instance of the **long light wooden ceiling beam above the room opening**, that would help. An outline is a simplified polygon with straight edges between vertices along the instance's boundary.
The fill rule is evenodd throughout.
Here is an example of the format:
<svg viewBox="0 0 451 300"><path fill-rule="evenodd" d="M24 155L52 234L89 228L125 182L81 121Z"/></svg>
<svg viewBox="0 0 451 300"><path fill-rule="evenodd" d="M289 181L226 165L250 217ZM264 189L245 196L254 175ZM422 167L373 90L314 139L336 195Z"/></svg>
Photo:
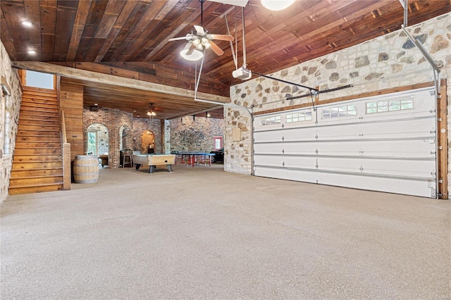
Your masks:
<svg viewBox="0 0 451 300"><path fill-rule="evenodd" d="M11 62L13 68L24 70L32 70L42 73L50 73L60 75L63 77L87 80L91 82L99 82L107 85L117 85L120 87L131 87L134 89L142 89L146 91L159 92L162 94L171 94L176 96L192 97L194 99L194 91L190 89L181 89L180 87L169 87L168 85L160 85L142 80L136 80L115 75L95 73L87 70L80 70L76 68L65 67L61 65L54 65L52 63L42 63L39 61L13 61ZM211 101L218 101L222 103L230 102L230 98L226 96L218 96L215 94L207 94L197 92L197 97Z"/></svg>

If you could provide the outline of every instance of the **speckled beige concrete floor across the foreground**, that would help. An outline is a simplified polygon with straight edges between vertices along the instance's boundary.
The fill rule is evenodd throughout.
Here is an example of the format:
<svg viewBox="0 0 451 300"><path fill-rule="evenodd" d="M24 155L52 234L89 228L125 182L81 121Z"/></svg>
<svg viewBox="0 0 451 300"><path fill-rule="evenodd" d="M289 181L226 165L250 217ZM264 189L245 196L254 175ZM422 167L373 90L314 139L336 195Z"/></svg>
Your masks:
<svg viewBox="0 0 451 300"><path fill-rule="evenodd" d="M451 299L450 201L175 166L1 205L1 299Z"/></svg>

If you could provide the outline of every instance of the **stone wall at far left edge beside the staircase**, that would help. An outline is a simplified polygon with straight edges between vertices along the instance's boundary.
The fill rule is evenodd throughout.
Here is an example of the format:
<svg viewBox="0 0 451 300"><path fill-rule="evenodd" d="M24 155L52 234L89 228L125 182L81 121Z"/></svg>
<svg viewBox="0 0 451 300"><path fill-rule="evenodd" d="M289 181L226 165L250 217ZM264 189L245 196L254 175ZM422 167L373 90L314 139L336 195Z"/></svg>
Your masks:
<svg viewBox="0 0 451 300"><path fill-rule="evenodd" d="M0 117L0 204L8 197L9 179L13 166L13 151L16 146L22 85L16 69L0 40L0 77L5 77L11 96L3 95L0 88L1 106L5 106L5 119ZM1 113L0 109L0 113ZM4 121L3 121L4 120Z"/></svg>

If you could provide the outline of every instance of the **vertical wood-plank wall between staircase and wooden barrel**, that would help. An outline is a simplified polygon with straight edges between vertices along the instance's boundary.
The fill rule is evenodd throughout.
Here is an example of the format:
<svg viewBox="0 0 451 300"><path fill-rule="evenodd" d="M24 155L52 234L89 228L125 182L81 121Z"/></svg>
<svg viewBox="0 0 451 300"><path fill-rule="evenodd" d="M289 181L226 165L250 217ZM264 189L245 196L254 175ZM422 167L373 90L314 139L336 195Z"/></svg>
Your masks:
<svg viewBox="0 0 451 300"><path fill-rule="evenodd" d="M59 104L66 118L66 135L70 143L70 160L85 154L83 137L83 85L80 80L61 77Z"/></svg>

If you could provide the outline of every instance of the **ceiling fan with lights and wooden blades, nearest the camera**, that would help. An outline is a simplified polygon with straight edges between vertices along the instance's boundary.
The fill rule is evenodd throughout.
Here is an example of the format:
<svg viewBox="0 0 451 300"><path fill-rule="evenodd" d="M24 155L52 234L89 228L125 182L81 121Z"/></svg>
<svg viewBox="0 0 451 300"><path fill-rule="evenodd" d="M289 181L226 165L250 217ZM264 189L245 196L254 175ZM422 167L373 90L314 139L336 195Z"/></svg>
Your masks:
<svg viewBox="0 0 451 300"><path fill-rule="evenodd" d="M220 41L233 41L233 37L231 35L214 35L209 33L207 30L204 29L203 23L204 23L204 1L205 0L199 0L201 3L201 26L194 25L194 31L188 33L185 37L174 37L172 39L168 39L170 42L177 41L180 39L186 39L189 45L189 48L187 49L186 55L190 56L194 50L205 50L211 48L211 50L216 53L216 55L221 56L224 54L224 51L219 48L218 45L216 45L213 42L213 39L217 39ZM187 45L187 46L188 46Z"/></svg>

